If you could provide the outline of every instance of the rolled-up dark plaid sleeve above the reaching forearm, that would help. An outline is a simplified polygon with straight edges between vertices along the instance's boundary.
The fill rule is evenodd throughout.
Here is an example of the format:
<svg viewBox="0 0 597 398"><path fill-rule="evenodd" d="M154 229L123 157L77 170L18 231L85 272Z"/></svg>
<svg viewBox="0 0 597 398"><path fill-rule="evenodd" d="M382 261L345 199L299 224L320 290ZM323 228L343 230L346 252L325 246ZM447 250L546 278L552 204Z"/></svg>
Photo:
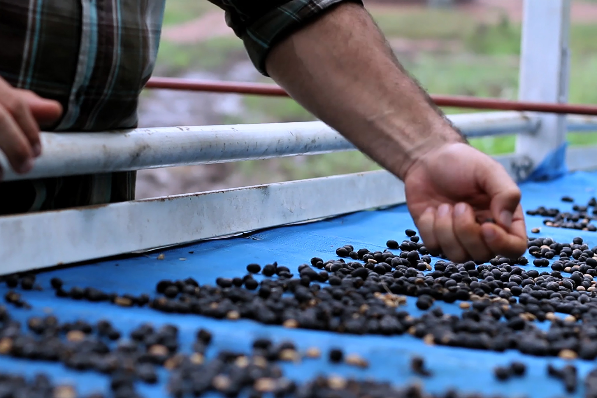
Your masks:
<svg viewBox="0 0 597 398"><path fill-rule="evenodd" d="M362 0L210 0L226 11L226 23L242 39L253 64L267 75L271 48L313 18L341 2Z"/></svg>

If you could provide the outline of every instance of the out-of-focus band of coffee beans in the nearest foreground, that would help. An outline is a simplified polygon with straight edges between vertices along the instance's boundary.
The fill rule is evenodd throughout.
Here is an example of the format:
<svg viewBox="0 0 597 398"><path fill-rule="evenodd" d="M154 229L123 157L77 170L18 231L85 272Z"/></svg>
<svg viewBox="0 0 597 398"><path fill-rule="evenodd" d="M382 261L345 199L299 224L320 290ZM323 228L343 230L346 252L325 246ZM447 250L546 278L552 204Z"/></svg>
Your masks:
<svg viewBox="0 0 597 398"><path fill-rule="evenodd" d="M372 392L384 397L460 397L457 391L441 395L425 394L418 385L393 387L386 382L358 381L337 375L322 375L305 384L297 384L284 377L279 363L296 363L300 360L320 357L319 349L307 348L300 352L292 341L273 343L267 338L253 341L250 354L220 350L211 359L205 350L213 340L210 331L199 329L192 353L179 350L176 326L164 325L154 328L143 323L130 332L130 338L120 338L110 348L107 335L114 331L112 325L101 320L91 325L82 320L60 323L54 316L31 317L27 321L29 332L22 332L19 322L10 319L4 307L0 307L0 355L29 360L61 362L79 371L95 371L110 376L108 396L139 397L135 389L137 381L158 382L158 367L170 371L167 388L171 396L203 396L219 392L228 397L246 394L261 397L273 393L276 397L338 397L372 396ZM366 367L367 361L356 354L344 354L340 348L328 353L332 363ZM413 359L413 371L429 376L423 360ZM27 381L20 375L0 374L0 394L6 397L52 397L75 398L75 387L50 383L48 378L37 375ZM103 398L94 393L88 398Z"/></svg>

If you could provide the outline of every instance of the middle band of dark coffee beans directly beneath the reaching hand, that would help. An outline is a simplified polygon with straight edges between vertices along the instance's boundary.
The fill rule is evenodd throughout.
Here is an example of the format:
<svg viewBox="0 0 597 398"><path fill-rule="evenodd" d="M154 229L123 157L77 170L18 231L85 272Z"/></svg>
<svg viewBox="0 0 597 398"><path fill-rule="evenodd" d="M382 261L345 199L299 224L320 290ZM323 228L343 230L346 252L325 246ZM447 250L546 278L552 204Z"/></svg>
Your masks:
<svg viewBox="0 0 597 398"><path fill-rule="evenodd" d="M336 253L352 261L313 257L296 275L277 263L263 268L250 264L245 276L220 277L216 285L200 286L191 277L161 280L154 298L91 288L66 291L55 279L52 285L59 297L111 300L121 306L149 301L151 308L167 313L350 334L408 333L427 344L517 349L536 356L597 357L597 246L589 248L581 237L571 243L530 238L534 266L548 267L559 256L550 272L525 269L525 257L497 257L488 264L439 260L432 266L416 233L407 230L405 235L409 239L401 243L387 242L397 245L399 254L344 245ZM265 277L261 282L254 279L259 272ZM408 296L417 297L417 307L429 311L415 317L401 310ZM457 300L464 310L460 316L434 306ZM545 320L551 322L549 331L535 325Z"/></svg>

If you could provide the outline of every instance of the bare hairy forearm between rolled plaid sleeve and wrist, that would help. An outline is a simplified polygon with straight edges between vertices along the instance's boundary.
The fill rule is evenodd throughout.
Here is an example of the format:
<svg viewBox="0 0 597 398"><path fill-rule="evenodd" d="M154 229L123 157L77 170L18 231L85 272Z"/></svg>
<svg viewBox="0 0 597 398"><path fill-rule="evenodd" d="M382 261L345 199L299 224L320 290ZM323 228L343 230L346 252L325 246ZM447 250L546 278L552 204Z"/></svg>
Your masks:
<svg viewBox="0 0 597 398"><path fill-rule="evenodd" d="M429 150L464 141L359 5L340 4L288 36L270 51L266 67L313 115L400 178Z"/></svg>

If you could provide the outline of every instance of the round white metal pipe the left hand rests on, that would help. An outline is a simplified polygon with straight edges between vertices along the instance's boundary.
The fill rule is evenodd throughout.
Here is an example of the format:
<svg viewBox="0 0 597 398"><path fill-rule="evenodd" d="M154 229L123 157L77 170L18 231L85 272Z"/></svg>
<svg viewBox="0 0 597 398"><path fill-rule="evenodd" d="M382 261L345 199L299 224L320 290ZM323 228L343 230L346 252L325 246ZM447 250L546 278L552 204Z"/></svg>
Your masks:
<svg viewBox="0 0 597 398"><path fill-rule="evenodd" d="M533 132L518 112L462 113L451 121L469 137ZM355 147L322 122L138 128L124 132L42 132L32 171L15 174L0 156L4 180L315 155Z"/></svg>

